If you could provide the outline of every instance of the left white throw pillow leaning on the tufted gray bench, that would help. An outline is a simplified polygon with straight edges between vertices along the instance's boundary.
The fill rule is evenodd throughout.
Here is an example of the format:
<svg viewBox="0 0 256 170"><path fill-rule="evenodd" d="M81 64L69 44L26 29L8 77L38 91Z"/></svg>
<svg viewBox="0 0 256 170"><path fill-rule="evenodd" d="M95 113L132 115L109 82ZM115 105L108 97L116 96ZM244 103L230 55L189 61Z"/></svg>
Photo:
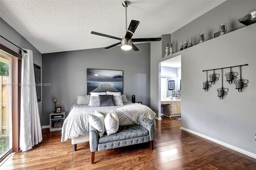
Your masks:
<svg viewBox="0 0 256 170"><path fill-rule="evenodd" d="M97 130L100 137L105 132L104 119L105 117L98 111L95 111L88 117L89 124Z"/></svg>

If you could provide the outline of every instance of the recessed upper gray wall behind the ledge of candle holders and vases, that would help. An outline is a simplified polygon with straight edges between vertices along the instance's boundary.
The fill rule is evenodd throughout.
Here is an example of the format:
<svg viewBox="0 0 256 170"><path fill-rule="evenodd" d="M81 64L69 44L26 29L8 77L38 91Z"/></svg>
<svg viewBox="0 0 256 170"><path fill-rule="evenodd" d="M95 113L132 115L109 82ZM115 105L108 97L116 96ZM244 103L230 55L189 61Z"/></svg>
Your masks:
<svg viewBox="0 0 256 170"><path fill-rule="evenodd" d="M219 25L227 24L228 33L244 27L238 22L242 16L256 9L255 0L228 0L206 14L196 18L194 21L183 26L176 32L171 33L172 52L180 51L180 43L192 39L192 44L199 43L199 34L205 33L205 40L213 38L213 33L219 30ZM169 42L170 43L170 42ZM164 44L166 46L166 44Z"/></svg>

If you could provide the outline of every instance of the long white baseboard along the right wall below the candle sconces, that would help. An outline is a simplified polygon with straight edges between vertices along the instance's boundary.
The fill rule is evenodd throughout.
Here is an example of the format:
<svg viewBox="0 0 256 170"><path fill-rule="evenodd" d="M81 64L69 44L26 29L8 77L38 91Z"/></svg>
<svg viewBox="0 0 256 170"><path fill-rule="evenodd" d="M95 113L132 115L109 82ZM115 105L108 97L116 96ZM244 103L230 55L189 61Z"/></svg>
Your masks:
<svg viewBox="0 0 256 170"><path fill-rule="evenodd" d="M180 129L185 130L185 131L187 131L187 132L190 132L190 133L192 133L192 134L195 134L195 135L197 135L197 136L200 136L200 137L202 137L202 138L205 138L205 139L207 139L207 140L210 140L210 141L212 141L212 142L215 142L215 143L217 143L217 144L220 144L220 145L222 145L222 146L225 146L225 147L227 147L227 148L230 148L230 149L232 149L232 150L235 150L235 151L237 151L237 152L240 152L240 153L242 153L242 154L245 154L245 155L247 155L247 156L250 156L250 157L256 159L256 154L254 154L254 153L252 153L252 152L248 152L247 150L243 150L243 149L238 148L238 147L236 147L236 146L233 146L233 145L231 145L231 144L227 144L227 143L222 142L222 141L220 141L220 140L211 138L211 137L209 137L209 136L206 136L206 135L204 135L204 134L195 132L195 131L193 131L193 130L190 130L190 129L187 129L187 128L184 128L184 127L180 127Z"/></svg>

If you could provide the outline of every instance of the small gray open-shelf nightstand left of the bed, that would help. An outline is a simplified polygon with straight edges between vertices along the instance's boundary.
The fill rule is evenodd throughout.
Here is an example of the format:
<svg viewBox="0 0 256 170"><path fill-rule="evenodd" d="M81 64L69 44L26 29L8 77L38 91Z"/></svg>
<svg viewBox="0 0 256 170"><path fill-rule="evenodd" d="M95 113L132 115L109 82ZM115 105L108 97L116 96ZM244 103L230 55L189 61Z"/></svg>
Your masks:
<svg viewBox="0 0 256 170"><path fill-rule="evenodd" d="M50 114L50 131L61 130L66 119L66 111Z"/></svg>

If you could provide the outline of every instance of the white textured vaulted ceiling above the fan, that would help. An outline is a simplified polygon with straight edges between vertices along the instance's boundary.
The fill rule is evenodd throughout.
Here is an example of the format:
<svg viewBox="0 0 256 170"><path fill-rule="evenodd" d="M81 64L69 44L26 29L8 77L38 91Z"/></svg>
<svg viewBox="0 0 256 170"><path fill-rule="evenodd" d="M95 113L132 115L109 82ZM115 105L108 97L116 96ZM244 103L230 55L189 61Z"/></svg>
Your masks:
<svg viewBox="0 0 256 170"><path fill-rule="evenodd" d="M41 53L106 47L123 38L123 0L0 0L0 17ZM131 20L140 24L133 38L170 34L223 0L130 0ZM1 35L4 36L4 35ZM110 50L110 49L108 49Z"/></svg>

